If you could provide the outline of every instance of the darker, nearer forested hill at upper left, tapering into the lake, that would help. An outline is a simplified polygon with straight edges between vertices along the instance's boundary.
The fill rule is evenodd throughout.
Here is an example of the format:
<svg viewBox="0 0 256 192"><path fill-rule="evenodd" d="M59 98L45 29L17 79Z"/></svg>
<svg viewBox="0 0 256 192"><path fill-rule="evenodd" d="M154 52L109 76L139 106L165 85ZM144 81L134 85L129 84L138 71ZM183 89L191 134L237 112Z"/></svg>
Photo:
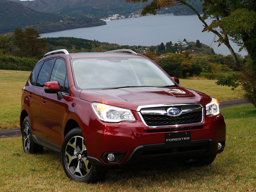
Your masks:
<svg viewBox="0 0 256 192"><path fill-rule="evenodd" d="M21 1L19 1L21 2ZM12 1L0 1L0 34L13 32L15 27L33 27L40 33L106 25L105 22L89 17L62 16L56 13L34 11Z"/></svg>

